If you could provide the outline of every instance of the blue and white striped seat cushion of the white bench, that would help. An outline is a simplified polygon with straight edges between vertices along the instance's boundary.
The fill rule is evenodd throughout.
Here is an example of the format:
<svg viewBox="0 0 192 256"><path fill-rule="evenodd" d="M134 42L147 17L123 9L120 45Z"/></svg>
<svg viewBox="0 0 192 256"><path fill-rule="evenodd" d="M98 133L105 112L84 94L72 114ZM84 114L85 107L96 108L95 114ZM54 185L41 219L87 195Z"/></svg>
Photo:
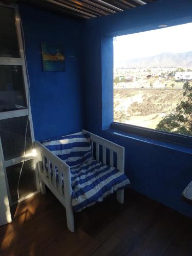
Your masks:
<svg viewBox="0 0 192 256"><path fill-rule="evenodd" d="M130 181L116 168L95 160L84 162L71 170L72 205L74 211L94 205L117 191L129 186Z"/></svg>

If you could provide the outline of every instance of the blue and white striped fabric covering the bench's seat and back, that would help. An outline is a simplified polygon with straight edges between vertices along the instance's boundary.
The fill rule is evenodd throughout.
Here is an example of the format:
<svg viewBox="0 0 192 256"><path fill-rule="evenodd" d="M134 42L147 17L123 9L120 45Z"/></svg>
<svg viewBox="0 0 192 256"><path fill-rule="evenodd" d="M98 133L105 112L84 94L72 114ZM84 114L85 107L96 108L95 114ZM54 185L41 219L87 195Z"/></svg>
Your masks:
<svg viewBox="0 0 192 256"><path fill-rule="evenodd" d="M130 185L115 167L93 159L89 134L78 133L43 142L50 151L71 167L72 206L81 211Z"/></svg>

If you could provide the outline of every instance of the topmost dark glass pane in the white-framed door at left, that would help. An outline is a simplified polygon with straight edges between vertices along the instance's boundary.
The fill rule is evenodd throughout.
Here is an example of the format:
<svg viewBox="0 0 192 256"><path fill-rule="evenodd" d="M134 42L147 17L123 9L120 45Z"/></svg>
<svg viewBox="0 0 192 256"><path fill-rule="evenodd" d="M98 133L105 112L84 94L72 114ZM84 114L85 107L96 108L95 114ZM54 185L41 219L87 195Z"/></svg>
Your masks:
<svg viewBox="0 0 192 256"><path fill-rule="evenodd" d="M3 6L0 6L0 57L20 57L15 28L15 10Z"/></svg>

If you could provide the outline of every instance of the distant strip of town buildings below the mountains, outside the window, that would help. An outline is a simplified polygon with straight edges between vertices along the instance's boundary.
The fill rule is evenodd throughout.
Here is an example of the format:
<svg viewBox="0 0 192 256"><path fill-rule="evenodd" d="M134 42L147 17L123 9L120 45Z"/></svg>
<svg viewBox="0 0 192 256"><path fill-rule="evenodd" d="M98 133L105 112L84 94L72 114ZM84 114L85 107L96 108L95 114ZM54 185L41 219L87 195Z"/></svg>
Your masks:
<svg viewBox="0 0 192 256"><path fill-rule="evenodd" d="M182 89L184 80L192 80L192 67L114 69L114 88Z"/></svg>

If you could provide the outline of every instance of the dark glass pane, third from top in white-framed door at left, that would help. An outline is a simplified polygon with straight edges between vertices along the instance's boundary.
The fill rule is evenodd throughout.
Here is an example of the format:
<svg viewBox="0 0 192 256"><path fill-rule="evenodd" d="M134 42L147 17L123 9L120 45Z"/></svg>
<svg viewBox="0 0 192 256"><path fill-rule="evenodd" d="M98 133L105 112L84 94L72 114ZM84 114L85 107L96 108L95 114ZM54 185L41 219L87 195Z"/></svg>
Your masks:
<svg viewBox="0 0 192 256"><path fill-rule="evenodd" d="M8 118L0 121L4 159L24 156L27 116ZM32 149L30 126L28 122L26 152Z"/></svg>

